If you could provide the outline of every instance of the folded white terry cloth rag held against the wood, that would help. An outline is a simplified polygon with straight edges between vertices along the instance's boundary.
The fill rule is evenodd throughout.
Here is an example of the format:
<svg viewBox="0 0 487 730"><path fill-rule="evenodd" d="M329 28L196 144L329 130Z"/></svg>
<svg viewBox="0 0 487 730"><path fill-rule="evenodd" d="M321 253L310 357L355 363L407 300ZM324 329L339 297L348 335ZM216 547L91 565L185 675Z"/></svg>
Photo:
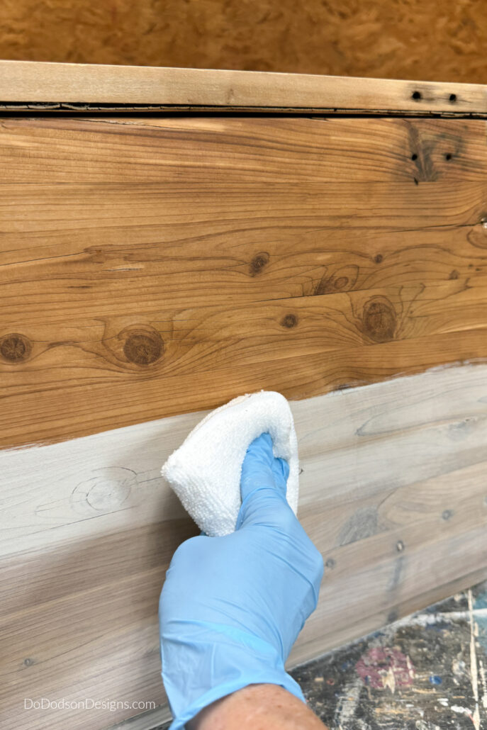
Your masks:
<svg viewBox="0 0 487 730"><path fill-rule="evenodd" d="M276 391L238 396L209 413L172 452L161 469L183 507L210 537L234 531L242 504L240 476L245 453L269 433L275 457L289 464L286 498L298 510L299 461L294 418Z"/></svg>

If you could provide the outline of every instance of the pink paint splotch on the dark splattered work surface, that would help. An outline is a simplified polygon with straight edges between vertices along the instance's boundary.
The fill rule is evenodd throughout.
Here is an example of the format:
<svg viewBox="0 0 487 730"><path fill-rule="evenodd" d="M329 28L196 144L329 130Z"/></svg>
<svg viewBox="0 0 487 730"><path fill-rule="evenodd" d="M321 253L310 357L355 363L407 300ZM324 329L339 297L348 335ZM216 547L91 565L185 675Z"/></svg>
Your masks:
<svg viewBox="0 0 487 730"><path fill-rule="evenodd" d="M413 684L413 663L397 649L369 649L358 659L355 668L364 684L375 689L389 687L394 692L396 687L409 687Z"/></svg>

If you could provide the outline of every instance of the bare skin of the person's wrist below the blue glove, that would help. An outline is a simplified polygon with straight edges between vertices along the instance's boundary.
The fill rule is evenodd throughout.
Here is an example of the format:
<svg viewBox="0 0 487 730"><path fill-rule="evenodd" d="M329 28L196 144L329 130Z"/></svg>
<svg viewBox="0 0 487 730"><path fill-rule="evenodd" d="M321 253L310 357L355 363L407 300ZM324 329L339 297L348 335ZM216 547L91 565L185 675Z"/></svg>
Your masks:
<svg viewBox="0 0 487 730"><path fill-rule="evenodd" d="M300 699L279 685L248 685L199 712L188 730L328 730Z"/></svg>

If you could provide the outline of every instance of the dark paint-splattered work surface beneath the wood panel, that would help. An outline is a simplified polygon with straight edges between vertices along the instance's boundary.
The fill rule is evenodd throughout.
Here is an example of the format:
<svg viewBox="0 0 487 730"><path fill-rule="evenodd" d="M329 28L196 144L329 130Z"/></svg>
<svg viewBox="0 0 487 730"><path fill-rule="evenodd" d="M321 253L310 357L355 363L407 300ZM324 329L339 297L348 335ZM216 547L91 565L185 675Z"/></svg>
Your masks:
<svg viewBox="0 0 487 730"><path fill-rule="evenodd" d="M487 582L291 674L330 730L487 730Z"/></svg>

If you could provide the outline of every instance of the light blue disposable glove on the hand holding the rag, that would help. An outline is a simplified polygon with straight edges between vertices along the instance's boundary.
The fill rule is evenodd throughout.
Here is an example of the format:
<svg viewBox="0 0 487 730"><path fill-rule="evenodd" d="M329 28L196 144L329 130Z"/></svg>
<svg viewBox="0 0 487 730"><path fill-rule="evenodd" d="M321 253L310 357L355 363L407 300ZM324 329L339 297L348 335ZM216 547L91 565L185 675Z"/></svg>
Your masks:
<svg viewBox="0 0 487 730"><path fill-rule="evenodd" d="M318 602L323 559L285 499L288 474L259 436L242 465L236 531L191 537L172 556L159 604L169 730L249 684L304 702L284 664Z"/></svg>

